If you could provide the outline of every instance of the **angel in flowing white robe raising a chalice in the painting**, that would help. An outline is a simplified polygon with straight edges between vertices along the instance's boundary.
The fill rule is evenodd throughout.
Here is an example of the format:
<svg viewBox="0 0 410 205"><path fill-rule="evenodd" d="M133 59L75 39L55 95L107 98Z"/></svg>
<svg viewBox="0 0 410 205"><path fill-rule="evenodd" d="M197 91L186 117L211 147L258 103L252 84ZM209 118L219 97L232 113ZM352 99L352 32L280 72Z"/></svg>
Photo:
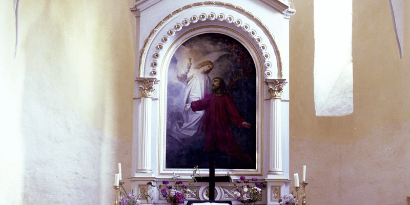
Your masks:
<svg viewBox="0 0 410 205"><path fill-rule="evenodd" d="M186 83L183 105L203 99L211 89L211 78L208 74L214 68L212 61L203 61L196 65L194 69L191 69L191 65L189 63L187 68L180 69L177 73L178 80ZM192 136L199 131L203 115L204 110L197 112L192 111L192 109L183 110L183 124L175 122L171 128L171 136L182 144L190 144L189 141L192 141Z"/></svg>

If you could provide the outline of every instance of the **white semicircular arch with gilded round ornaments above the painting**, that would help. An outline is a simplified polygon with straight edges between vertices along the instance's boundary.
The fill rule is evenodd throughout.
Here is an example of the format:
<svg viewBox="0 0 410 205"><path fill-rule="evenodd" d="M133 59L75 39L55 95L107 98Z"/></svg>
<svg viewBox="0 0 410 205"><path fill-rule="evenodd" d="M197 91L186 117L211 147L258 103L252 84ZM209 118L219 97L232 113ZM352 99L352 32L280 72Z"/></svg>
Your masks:
<svg viewBox="0 0 410 205"><path fill-rule="evenodd" d="M167 65L166 53L176 39L186 35L187 31L204 26L219 27L232 34L235 31L244 36L261 60L257 70L264 73L265 79L283 78L282 60L279 47L273 33L252 13L228 3L202 2L182 7L153 29L142 48L139 65L139 77L157 77L158 72ZM234 37L234 35L230 35ZM256 60L256 59L255 59ZM257 61L255 61L257 64Z"/></svg>

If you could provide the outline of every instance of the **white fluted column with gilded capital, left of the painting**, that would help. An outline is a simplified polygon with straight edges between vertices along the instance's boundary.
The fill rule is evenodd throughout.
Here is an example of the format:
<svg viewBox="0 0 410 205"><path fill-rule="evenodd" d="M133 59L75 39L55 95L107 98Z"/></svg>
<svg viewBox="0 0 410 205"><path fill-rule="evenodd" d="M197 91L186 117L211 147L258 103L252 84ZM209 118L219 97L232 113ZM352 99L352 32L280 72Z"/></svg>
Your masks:
<svg viewBox="0 0 410 205"><path fill-rule="evenodd" d="M137 174L152 174L151 168L151 127L152 127L152 93L157 84L156 78L137 77L136 81L141 92L141 120L138 132L138 168Z"/></svg>

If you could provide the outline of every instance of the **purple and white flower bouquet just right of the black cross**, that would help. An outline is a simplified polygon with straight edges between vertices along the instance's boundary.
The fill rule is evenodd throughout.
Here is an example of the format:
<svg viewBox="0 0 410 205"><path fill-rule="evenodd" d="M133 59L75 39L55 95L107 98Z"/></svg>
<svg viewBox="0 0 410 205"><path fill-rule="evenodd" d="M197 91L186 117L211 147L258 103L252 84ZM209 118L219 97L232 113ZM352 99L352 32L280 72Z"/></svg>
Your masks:
<svg viewBox="0 0 410 205"><path fill-rule="evenodd" d="M243 204L246 203L255 203L257 200L260 200L262 195L262 190L265 189L267 186L265 183L259 183L258 178L252 178L253 185L249 185L249 180L245 179L245 176L241 176L240 180L233 181L231 178L231 182L234 183L236 187L236 191L234 191L234 195L237 197L236 200L240 201Z"/></svg>

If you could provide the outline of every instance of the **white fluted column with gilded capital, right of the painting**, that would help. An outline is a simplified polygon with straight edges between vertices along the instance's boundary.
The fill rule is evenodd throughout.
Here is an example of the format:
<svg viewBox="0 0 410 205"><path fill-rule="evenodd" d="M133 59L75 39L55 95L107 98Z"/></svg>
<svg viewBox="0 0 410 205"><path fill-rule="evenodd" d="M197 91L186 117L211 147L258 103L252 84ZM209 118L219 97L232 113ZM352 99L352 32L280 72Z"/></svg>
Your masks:
<svg viewBox="0 0 410 205"><path fill-rule="evenodd" d="M271 94L271 153L268 175L283 174L282 172L282 142L281 142L281 115L280 99L286 79L267 79L268 91Z"/></svg>

